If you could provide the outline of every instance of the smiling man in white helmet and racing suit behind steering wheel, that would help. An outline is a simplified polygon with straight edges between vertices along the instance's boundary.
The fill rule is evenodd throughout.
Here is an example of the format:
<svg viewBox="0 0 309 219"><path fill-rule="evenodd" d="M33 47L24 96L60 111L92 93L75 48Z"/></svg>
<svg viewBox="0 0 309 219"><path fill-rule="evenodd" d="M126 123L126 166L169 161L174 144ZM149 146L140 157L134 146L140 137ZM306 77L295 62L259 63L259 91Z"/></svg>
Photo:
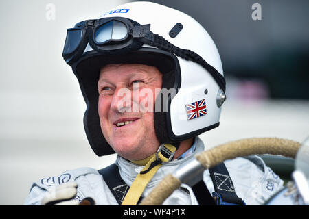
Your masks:
<svg viewBox="0 0 309 219"><path fill-rule="evenodd" d="M118 156L99 171L79 168L34 183L26 205L77 205L85 198L137 205L204 150L199 134L219 125L220 56L207 31L182 12L148 2L120 5L68 29L62 56L87 103L91 148L98 156ZM181 185L163 204L258 205L282 180L253 156L205 170L198 185Z"/></svg>

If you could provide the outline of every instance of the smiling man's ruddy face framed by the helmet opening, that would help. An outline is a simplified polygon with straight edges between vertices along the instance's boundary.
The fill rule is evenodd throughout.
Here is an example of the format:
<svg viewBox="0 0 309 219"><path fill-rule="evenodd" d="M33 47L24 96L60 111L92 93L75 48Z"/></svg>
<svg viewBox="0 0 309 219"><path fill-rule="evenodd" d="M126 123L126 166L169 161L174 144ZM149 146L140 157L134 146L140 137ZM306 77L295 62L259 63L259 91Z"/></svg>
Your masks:
<svg viewBox="0 0 309 219"><path fill-rule="evenodd" d="M153 107L161 86L162 74L153 66L109 64L101 68L100 125L108 144L120 156L140 160L159 148Z"/></svg>

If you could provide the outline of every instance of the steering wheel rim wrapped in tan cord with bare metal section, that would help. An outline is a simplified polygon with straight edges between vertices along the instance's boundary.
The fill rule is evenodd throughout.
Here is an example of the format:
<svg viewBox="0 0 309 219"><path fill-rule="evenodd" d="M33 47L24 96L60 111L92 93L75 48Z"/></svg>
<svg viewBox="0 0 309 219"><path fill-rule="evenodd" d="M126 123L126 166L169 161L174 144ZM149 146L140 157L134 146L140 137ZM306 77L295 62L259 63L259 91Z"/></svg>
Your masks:
<svg viewBox="0 0 309 219"><path fill-rule="evenodd" d="M140 205L162 205L163 201L179 188L181 183L195 185L203 180L203 172L206 169L227 159L249 155L260 155L266 165L270 166L287 183L294 171L295 157L300 146L299 142L282 138L247 138L221 144L199 153L187 165L165 176L141 201Z"/></svg>

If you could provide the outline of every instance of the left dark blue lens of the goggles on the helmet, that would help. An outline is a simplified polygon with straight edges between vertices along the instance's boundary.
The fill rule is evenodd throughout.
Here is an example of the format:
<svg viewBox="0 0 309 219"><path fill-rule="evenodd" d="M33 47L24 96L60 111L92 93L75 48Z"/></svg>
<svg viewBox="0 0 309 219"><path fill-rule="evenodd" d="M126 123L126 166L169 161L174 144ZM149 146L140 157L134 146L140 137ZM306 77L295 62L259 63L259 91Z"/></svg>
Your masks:
<svg viewBox="0 0 309 219"><path fill-rule="evenodd" d="M80 44L82 40L82 30L81 29L68 29L67 38L65 39L65 48L63 49L63 54L73 53Z"/></svg>

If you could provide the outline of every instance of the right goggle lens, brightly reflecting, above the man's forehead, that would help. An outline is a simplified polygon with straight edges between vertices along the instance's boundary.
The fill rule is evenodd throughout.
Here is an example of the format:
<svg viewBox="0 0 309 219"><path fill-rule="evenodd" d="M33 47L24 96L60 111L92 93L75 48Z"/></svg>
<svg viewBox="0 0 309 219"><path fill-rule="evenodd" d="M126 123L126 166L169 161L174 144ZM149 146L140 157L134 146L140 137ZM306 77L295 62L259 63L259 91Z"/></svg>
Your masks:
<svg viewBox="0 0 309 219"><path fill-rule="evenodd" d="M109 21L95 30L95 41L99 44L111 40L123 40L128 36L128 28L120 21Z"/></svg>

